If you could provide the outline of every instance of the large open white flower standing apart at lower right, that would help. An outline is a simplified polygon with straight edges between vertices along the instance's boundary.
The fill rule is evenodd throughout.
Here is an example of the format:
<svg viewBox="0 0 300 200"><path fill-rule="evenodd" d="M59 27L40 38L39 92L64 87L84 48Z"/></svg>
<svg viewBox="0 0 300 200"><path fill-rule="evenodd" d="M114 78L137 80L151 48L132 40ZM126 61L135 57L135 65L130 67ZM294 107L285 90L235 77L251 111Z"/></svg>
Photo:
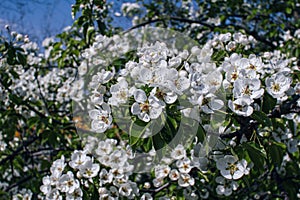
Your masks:
<svg viewBox="0 0 300 200"><path fill-rule="evenodd" d="M226 179L239 179L244 174L249 174L249 168L247 168L247 161L238 159L231 155L226 155L224 158L217 160L217 168L220 170L222 176Z"/></svg>

